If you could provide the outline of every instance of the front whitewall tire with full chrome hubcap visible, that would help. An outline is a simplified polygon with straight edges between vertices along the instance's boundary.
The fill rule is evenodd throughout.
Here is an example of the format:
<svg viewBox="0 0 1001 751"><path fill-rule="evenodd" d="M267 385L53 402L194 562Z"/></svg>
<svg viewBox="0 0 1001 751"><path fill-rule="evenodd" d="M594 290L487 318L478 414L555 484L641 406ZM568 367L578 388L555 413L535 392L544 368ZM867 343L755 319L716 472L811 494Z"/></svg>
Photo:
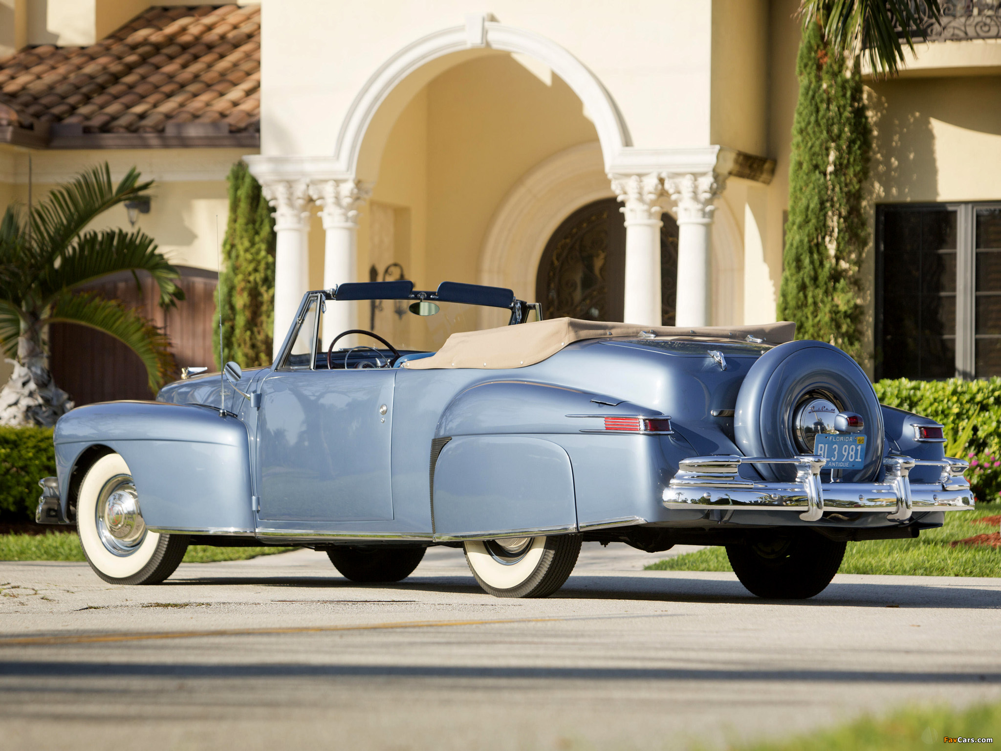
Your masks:
<svg viewBox="0 0 1001 751"><path fill-rule="evenodd" d="M107 454L80 484L76 530L90 568L111 584L158 584L184 558L184 535L146 529L140 499L125 460Z"/></svg>

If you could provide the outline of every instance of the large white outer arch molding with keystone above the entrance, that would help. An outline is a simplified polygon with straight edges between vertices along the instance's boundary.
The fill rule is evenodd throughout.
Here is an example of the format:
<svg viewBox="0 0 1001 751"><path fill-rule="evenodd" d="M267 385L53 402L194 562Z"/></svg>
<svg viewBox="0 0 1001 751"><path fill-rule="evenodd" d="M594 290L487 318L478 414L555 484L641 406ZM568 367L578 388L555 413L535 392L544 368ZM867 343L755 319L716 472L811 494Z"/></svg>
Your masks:
<svg viewBox="0 0 1001 751"><path fill-rule="evenodd" d="M521 52L531 55L548 65L581 99L591 115L602 145L606 171L609 171L623 148L632 145L629 131L619 107L601 81L584 63L551 39L514 26L505 26L487 20L488 16L470 16L465 26L454 26L436 31L406 45L393 54L365 81L348 107L334 145L334 161L352 177L358 174L362 143L379 108L386 103L394 90L411 74L421 71L414 81L412 91L397 92L401 101L393 102L390 109L399 109L420 85L433 75L450 67L443 60L447 55L462 51L471 54L460 56L456 64L478 51ZM433 64L435 63L436 64ZM407 87L410 88L410 87ZM394 120L392 117L391 120ZM386 132L391 126L384 126Z"/></svg>

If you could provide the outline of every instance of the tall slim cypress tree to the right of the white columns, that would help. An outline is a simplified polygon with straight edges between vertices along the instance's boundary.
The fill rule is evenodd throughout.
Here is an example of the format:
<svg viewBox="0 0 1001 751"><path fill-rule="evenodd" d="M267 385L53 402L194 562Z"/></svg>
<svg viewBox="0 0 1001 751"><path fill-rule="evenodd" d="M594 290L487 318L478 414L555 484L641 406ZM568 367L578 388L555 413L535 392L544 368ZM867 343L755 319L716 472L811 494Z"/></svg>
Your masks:
<svg viewBox="0 0 1001 751"><path fill-rule="evenodd" d="M807 26L796 63L800 98L778 310L780 319L796 321L798 338L828 341L857 359L870 149L859 67L829 50L820 24Z"/></svg>

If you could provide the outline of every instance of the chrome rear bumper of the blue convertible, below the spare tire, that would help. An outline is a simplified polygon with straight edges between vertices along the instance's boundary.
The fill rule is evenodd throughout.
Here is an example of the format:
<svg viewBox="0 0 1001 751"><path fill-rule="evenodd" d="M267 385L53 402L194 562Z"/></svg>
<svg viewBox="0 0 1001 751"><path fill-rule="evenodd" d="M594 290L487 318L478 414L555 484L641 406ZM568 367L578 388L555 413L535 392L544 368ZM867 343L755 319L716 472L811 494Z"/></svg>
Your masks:
<svg viewBox="0 0 1001 751"><path fill-rule="evenodd" d="M964 511L973 508L973 494L959 459L923 461L887 457L883 483L821 483L827 460L815 455L789 459L765 457L693 457L683 460L670 485L664 489L668 509L756 509L798 511L804 522L816 522L824 512L872 512L904 521L915 511ZM762 483L739 475L742 464L791 464L796 480ZM937 483L911 484L915 467L939 467Z"/></svg>

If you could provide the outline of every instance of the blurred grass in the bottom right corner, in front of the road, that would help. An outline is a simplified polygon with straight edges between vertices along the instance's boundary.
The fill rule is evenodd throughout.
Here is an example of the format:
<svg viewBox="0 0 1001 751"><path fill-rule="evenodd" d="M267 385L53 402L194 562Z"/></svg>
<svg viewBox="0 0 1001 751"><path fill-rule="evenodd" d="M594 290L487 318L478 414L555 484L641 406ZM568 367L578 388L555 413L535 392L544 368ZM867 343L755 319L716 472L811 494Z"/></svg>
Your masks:
<svg viewBox="0 0 1001 751"><path fill-rule="evenodd" d="M951 707L907 709L885 718L865 717L840 727L785 741L730 746L731 751L913 751L942 746L944 738L994 738L1001 704L957 711ZM974 740L974 743L976 741ZM992 748L997 743L979 744Z"/></svg>

